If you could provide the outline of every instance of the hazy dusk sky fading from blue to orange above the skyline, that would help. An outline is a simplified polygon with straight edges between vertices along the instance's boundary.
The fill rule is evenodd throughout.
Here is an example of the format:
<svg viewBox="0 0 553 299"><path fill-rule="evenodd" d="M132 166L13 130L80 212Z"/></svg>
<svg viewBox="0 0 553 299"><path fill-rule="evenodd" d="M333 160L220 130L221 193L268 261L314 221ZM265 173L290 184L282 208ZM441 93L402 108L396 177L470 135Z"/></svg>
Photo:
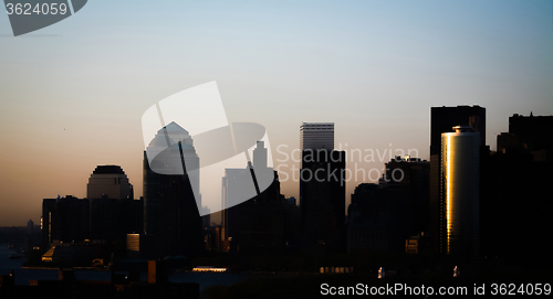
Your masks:
<svg viewBox="0 0 553 299"><path fill-rule="evenodd" d="M546 0L94 0L13 38L0 13L0 226L84 197L97 164L122 165L140 196L143 113L211 81L230 121L267 128L275 165L302 121L335 122L336 148L429 159L431 106L486 107L494 149L512 114L553 115L552 18Z"/></svg>

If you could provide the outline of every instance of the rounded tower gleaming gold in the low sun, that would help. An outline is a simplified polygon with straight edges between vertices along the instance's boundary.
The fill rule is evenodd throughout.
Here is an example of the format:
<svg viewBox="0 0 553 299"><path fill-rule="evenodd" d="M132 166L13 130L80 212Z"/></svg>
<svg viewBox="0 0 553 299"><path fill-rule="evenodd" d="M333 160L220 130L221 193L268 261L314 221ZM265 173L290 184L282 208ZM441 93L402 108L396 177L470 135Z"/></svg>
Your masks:
<svg viewBox="0 0 553 299"><path fill-rule="evenodd" d="M447 254L477 258L480 226L480 135L457 126L441 135L441 246Z"/></svg>

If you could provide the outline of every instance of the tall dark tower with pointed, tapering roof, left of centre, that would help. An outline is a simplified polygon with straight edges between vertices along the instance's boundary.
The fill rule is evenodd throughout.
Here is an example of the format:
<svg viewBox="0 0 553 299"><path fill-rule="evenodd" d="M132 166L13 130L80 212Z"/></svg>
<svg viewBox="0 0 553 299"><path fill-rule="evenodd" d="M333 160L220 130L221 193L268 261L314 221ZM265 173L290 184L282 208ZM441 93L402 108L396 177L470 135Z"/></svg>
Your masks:
<svg viewBox="0 0 553 299"><path fill-rule="evenodd" d="M157 132L147 152L155 158L150 163L144 152L144 228L154 235L153 252L157 256L192 256L202 247L197 207L201 204L199 158L192 139L170 122Z"/></svg>

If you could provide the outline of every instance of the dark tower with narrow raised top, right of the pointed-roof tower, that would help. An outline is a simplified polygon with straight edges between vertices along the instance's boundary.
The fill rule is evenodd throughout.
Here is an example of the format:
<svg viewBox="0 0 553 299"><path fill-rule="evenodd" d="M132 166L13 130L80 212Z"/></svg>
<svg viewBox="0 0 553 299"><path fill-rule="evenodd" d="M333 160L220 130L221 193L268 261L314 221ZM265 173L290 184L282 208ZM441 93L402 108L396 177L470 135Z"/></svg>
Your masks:
<svg viewBox="0 0 553 299"><path fill-rule="evenodd" d="M253 163L248 163L243 169L225 171L221 238L229 242L230 250L279 252L284 247L289 209L280 194L276 171L267 165L267 154L264 142L258 141L253 149ZM261 192L244 202L243 200L251 193L246 191L255 189L257 182L253 182L252 173L257 182L271 182L271 184L258 185Z"/></svg>

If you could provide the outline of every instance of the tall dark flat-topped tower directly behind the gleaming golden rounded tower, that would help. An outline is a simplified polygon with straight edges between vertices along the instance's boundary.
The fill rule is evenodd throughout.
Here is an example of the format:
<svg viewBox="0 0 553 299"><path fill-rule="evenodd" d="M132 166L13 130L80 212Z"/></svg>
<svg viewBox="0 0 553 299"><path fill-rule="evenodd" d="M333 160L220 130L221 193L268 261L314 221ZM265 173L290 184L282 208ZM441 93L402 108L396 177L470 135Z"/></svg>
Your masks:
<svg viewBox="0 0 553 299"><path fill-rule="evenodd" d="M474 106L431 107L430 109L430 217L428 238L432 252L444 252L440 246L440 223L444 217L444 196L440 194L441 134L455 126L470 126L480 134L482 154L486 156L486 108Z"/></svg>

